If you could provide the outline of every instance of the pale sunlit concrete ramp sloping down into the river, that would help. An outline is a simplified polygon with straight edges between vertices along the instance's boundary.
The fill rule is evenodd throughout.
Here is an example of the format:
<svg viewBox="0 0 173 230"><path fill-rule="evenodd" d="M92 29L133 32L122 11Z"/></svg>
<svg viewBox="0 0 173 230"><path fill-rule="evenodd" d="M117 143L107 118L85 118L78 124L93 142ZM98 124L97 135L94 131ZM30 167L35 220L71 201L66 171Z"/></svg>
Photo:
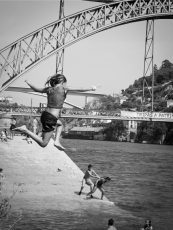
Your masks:
<svg viewBox="0 0 173 230"><path fill-rule="evenodd" d="M46 148L35 142L28 144L24 136L0 142L0 168L6 176L1 198L12 196L16 210L72 211L114 205L106 198L101 201L100 191L94 193L94 199L86 200L89 186L78 195L83 172L65 152L54 147L53 140Z"/></svg>

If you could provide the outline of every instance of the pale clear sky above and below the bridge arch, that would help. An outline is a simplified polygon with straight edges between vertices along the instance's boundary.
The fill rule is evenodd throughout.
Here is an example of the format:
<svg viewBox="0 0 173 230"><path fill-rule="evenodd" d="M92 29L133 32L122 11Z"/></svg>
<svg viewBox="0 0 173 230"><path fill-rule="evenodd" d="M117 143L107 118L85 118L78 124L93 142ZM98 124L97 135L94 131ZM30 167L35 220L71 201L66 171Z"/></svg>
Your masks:
<svg viewBox="0 0 173 230"><path fill-rule="evenodd" d="M65 0L65 15L101 3ZM0 0L0 49L34 30L58 19L59 0ZM168 59L173 62L173 20L155 20L154 63L160 67ZM142 77L144 65L146 21L115 27L95 34L65 49L64 75L68 85L88 88L101 84L97 93L120 93ZM55 57L38 65L11 86L27 87L25 79L44 86L55 73ZM22 93L3 92L18 104L39 106L46 99ZM84 105L84 98L69 96L68 102Z"/></svg>

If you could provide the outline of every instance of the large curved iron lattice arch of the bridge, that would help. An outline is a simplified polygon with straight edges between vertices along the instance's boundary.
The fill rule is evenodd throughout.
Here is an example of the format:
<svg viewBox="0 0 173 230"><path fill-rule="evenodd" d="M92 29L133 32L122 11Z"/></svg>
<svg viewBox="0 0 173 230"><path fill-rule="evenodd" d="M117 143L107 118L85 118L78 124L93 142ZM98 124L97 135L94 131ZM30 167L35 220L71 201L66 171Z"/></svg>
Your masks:
<svg viewBox="0 0 173 230"><path fill-rule="evenodd" d="M81 39L150 18L173 18L173 0L121 0L46 25L0 50L0 92L41 61Z"/></svg>

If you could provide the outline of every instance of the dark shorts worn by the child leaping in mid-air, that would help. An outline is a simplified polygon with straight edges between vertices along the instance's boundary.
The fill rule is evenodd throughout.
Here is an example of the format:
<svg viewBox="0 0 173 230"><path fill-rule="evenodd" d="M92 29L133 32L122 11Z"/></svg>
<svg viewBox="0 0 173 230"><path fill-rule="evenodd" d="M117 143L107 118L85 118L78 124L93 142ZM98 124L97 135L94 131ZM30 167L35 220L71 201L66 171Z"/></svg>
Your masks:
<svg viewBox="0 0 173 230"><path fill-rule="evenodd" d="M48 113L47 111L43 111L40 120L42 124L42 131L51 132L55 129L58 119L54 117L51 113Z"/></svg>

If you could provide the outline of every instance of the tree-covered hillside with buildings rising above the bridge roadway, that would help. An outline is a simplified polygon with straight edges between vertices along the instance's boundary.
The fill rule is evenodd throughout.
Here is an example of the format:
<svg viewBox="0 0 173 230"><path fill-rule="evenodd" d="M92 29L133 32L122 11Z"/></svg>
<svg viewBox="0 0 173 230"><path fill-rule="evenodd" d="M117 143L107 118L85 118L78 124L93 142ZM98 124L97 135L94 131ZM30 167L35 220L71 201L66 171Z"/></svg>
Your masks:
<svg viewBox="0 0 173 230"><path fill-rule="evenodd" d="M152 76L147 76L144 93L143 111L151 111L151 94L149 89L152 87ZM106 110L136 110L142 109L142 95L143 95L143 77L135 80L133 85L127 89L122 90L122 96L127 97L127 100L122 104L114 95L108 95L102 98L95 98L88 103L86 108L90 109L106 109ZM163 101L173 100L173 64L169 60L164 60L160 66L154 66L154 110L164 111L173 108L164 109Z"/></svg>

